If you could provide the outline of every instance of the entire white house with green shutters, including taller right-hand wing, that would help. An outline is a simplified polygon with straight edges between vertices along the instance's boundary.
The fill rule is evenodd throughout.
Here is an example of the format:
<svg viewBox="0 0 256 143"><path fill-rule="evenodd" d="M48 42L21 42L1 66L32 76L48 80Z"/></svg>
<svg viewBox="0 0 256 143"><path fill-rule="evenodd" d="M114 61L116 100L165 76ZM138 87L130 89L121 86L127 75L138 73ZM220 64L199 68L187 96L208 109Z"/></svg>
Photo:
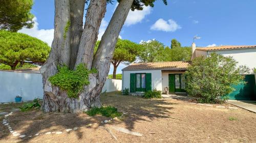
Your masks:
<svg viewBox="0 0 256 143"><path fill-rule="evenodd" d="M245 65L250 69L256 68L256 45L253 46L216 46L216 47L196 47L192 44L191 60L197 56L208 57L211 52L216 52L224 56L232 56L238 65ZM155 62L136 63L122 69L122 90L129 89L133 92L146 92L153 89L165 93L167 87L169 93L184 94L185 83L183 73L190 62ZM237 85L237 90L229 95L230 99L256 100L255 77L246 75L247 84Z"/></svg>

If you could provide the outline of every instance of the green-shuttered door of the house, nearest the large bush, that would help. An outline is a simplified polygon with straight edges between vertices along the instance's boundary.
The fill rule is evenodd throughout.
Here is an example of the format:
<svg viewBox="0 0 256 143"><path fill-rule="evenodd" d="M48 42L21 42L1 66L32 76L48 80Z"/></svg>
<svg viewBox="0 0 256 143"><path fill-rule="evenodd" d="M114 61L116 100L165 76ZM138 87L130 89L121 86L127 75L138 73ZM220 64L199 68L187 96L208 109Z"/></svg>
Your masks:
<svg viewBox="0 0 256 143"><path fill-rule="evenodd" d="M169 93L185 92L185 76L183 74L169 74Z"/></svg>

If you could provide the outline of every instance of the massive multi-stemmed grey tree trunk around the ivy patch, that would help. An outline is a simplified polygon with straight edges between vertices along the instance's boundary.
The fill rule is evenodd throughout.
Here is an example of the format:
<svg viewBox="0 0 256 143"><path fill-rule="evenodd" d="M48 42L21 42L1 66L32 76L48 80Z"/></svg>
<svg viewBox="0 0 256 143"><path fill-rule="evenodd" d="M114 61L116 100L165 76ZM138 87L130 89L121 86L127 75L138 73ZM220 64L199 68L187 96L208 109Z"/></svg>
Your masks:
<svg viewBox="0 0 256 143"><path fill-rule="evenodd" d="M82 3L79 1L76 0L72 4L71 0L55 0L54 40L50 56L40 69L44 84L42 110L45 112L80 112L101 106L99 95L109 73L118 35L133 3L133 0L120 2L93 58L99 26L105 14L106 0L90 1L82 34L79 25L81 13L74 9L77 7L76 4ZM63 24L68 21L71 21L71 27ZM77 41L79 37L80 40ZM77 58L74 60L76 55ZM80 63L87 64L88 69L96 68L98 73L89 75L90 84L84 87L83 92L78 95L79 98L68 98L66 91L53 86L48 79L57 73L57 65L65 64L73 69Z"/></svg>

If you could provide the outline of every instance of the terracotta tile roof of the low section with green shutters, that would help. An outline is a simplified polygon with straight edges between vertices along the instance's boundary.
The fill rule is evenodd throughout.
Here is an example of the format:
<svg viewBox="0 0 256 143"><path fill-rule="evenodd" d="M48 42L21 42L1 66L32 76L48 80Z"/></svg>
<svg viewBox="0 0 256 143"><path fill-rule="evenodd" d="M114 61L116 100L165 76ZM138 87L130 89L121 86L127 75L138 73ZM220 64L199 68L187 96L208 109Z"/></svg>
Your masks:
<svg viewBox="0 0 256 143"><path fill-rule="evenodd" d="M190 65L190 62L185 62L185 61L135 63L122 70L186 69L189 65Z"/></svg>

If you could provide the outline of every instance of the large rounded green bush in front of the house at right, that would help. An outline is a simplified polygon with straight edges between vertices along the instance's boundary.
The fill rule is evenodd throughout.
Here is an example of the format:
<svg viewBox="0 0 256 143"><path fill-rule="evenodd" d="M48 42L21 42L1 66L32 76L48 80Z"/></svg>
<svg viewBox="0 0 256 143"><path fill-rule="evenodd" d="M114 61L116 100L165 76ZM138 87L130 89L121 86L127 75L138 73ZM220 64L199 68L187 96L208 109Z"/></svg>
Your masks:
<svg viewBox="0 0 256 143"><path fill-rule="evenodd" d="M211 53L209 58L197 57L185 72L186 92L203 103L223 102L234 91L231 85L244 82L242 73L247 71L246 67L237 68L231 57L216 53Z"/></svg>

